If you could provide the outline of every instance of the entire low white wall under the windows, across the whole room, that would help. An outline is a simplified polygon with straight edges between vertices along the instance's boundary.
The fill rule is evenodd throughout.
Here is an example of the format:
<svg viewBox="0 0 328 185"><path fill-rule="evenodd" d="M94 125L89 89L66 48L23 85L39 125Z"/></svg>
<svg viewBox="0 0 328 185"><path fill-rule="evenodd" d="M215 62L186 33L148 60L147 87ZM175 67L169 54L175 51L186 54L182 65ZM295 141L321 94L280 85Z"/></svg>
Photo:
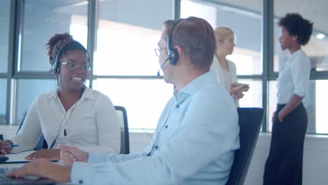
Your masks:
<svg viewBox="0 0 328 185"><path fill-rule="evenodd" d="M7 136L14 135L17 126L0 125L0 133ZM264 163L268 157L271 134L259 135L252 162L245 179L245 185L262 184ZM130 132L130 151L143 151L151 140L151 134L144 132ZM328 137L306 135L303 155L303 185L328 184Z"/></svg>

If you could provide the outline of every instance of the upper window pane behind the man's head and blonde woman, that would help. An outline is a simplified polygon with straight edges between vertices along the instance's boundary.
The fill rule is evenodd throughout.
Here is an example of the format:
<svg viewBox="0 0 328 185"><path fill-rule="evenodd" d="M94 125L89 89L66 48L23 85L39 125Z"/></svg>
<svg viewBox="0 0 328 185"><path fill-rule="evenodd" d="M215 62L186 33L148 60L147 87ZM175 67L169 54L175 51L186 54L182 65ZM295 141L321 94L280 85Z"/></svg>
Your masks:
<svg viewBox="0 0 328 185"><path fill-rule="evenodd" d="M254 6L251 6L254 5ZM237 8L238 7L238 8ZM181 17L196 16L217 27L229 27L235 33L235 48L228 60L235 63L238 75L262 74L261 1L233 4L231 1L181 1Z"/></svg>

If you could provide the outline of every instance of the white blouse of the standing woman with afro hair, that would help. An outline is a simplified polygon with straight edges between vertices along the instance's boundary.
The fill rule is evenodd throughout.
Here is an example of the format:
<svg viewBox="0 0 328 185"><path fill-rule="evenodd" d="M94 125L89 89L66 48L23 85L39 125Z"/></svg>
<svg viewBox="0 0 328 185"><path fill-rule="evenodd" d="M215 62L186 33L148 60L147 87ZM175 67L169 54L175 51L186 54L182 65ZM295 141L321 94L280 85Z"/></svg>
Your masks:
<svg viewBox="0 0 328 185"><path fill-rule="evenodd" d="M305 97L310 84L310 59L303 50L290 57L278 77L278 104L287 104L292 95Z"/></svg>

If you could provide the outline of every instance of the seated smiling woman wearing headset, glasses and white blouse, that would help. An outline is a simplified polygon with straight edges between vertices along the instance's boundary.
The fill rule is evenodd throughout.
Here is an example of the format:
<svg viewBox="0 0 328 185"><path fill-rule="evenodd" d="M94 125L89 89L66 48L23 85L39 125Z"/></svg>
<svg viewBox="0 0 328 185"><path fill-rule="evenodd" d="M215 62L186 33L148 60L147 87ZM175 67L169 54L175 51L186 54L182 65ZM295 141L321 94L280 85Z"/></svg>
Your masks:
<svg viewBox="0 0 328 185"><path fill-rule="evenodd" d="M114 106L106 95L85 85L89 72L86 48L67 33L55 34L46 46L57 89L34 100L18 135L0 140L1 153L32 150L41 135L48 149L36 151L27 159L59 159L58 144L119 153L120 125ZM19 146L3 147L12 144Z"/></svg>

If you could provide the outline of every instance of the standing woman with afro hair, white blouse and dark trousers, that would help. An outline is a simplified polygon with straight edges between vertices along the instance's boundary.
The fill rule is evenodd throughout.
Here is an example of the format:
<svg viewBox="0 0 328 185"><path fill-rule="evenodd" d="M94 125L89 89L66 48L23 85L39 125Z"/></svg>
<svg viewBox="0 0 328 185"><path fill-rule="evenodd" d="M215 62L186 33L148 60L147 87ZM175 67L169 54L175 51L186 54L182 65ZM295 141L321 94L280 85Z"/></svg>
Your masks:
<svg viewBox="0 0 328 185"><path fill-rule="evenodd" d="M278 105L273 114L271 147L264 184L302 184L303 144L308 116L303 107L310 83L310 60L301 49L310 40L313 23L298 13L287 13L278 25L282 50L291 56L279 72Z"/></svg>

